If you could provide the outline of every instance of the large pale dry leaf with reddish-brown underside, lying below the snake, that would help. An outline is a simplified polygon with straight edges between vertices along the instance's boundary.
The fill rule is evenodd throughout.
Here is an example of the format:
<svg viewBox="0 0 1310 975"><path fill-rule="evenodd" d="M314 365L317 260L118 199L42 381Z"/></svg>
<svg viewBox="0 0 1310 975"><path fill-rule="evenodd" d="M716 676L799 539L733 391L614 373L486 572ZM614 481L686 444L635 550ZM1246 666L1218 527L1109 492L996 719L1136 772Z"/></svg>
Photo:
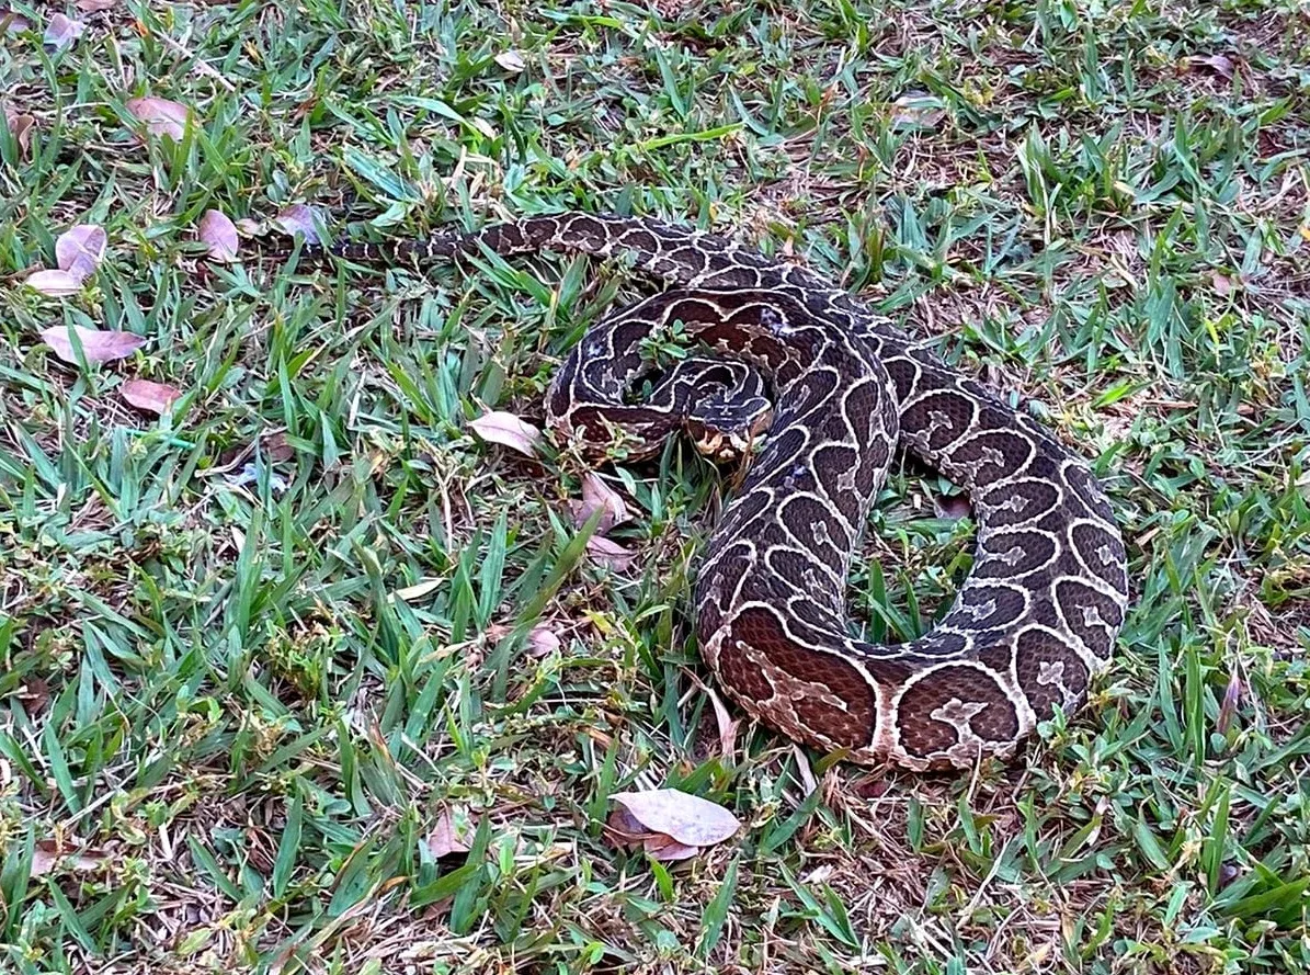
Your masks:
<svg viewBox="0 0 1310 975"><path fill-rule="evenodd" d="M610 837L621 845L641 845L656 860L686 860L731 839L741 827L718 803L680 789L617 793L610 798L620 806L605 824Z"/></svg>

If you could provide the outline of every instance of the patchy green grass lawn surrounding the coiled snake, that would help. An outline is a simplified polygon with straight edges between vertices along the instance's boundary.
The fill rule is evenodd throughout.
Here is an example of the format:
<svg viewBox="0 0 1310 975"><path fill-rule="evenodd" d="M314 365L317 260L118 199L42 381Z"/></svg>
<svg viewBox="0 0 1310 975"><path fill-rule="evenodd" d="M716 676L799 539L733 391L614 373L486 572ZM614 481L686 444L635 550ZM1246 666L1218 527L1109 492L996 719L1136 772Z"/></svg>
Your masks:
<svg viewBox="0 0 1310 975"><path fill-rule="evenodd" d="M1310 21L1145 4L145 4L0 51L0 971L1286 972L1310 966ZM68 13L76 14L73 8ZM126 100L191 106L139 142ZM203 261L582 207L787 249L1095 459L1133 609L1091 708L972 776L723 754L689 582L731 472L487 446L639 282ZM21 283L102 224L80 295ZM149 338L86 370L54 324ZM183 398L156 419L119 385ZM972 529L897 472L853 599ZM534 643L549 630L559 641ZM709 683L713 689L713 683ZM734 714L736 717L736 714ZM609 795L734 810L677 866ZM441 824L468 852L439 856Z"/></svg>

